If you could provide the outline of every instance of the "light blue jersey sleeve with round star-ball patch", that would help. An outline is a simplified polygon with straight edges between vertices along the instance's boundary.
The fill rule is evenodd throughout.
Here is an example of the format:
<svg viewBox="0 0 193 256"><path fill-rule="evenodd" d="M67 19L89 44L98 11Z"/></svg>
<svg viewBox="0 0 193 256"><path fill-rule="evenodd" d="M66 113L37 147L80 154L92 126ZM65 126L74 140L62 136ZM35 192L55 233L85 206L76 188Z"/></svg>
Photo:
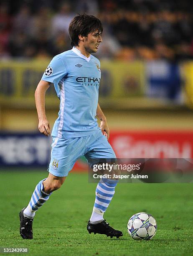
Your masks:
<svg viewBox="0 0 193 256"><path fill-rule="evenodd" d="M67 74L66 66L59 55L56 55L51 60L46 68L42 80L57 84Z"/></svg>

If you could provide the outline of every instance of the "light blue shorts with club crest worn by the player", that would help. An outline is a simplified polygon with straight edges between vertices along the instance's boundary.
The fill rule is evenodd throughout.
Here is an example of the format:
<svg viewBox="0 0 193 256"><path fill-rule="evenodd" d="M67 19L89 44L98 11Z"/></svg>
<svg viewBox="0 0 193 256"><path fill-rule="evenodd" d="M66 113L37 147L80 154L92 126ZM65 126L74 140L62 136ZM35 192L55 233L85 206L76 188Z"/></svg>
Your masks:
<svg viewBox="0 0 193 256"><path fill-rule="evenodd" d="M49 172L57 177L66 177L80 156L85 156L90 166L96 159L116 158L101 130L79 138L53 137Z"/></svg>

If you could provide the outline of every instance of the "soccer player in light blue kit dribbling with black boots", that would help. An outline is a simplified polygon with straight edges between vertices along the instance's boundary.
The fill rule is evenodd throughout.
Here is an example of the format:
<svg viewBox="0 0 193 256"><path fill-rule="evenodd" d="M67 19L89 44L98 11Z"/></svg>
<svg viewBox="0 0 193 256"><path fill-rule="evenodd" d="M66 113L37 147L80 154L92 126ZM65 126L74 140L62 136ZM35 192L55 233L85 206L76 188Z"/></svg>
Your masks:
<svg viewBox="0 0 193 256"><path fill-rule="evenodd" d="M45 113L45 94L55 87L60 100L58 118L53 126L49 175L41 180L27 207L20 211L20 235L33 238L32 223L36 211L59 189L80 156L91 165L93 159L116 158L108 142L107 119L98 103L101 79L100 62L91 53L102 43L101 21L87 14L76 15L69 25L73 48L56 55L48 65L36 92L39 131L50 135ZM97 124L100 119L100 128ZM101 179L96 189L93 212L87 224L89 233L120 237L122 232L112 228L103 218L114 195L117 180Z"/></svg>

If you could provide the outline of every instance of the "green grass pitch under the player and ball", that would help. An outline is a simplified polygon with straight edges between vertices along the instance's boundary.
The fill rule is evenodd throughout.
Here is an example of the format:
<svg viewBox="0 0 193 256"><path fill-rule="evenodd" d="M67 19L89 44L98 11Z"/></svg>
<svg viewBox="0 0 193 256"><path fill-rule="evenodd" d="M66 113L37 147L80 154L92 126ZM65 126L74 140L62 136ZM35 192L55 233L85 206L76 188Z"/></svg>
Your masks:
<svg viewBox="0 0 193 256"><path fill-rule="evenodd" d="M120 183L104 215L123 237L89 234L97 184L87 174L70 173L61 189L36 213L33 240L19 235L19 211L47 172L0 172L0 247L28 248L31 256L47 255L193 255L193 184ZM135 241L127 222L137 212L157 221L152 241ZM22 255L22 254L19 254Z"/></svg>

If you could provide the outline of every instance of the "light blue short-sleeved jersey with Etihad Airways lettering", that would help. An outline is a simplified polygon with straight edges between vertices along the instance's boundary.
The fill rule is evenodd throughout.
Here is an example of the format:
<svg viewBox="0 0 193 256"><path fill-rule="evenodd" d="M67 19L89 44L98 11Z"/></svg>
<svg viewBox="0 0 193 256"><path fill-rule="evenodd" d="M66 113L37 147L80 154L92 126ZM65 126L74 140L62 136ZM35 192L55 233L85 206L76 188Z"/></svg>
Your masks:
<svg viewBox="0 0 193 256"><path fill-rule="evenodd" d="M56 55L48 65L42 80L54 84L60 110L51 135L76 138L99 130L96 110L101 79L100 62L73 47Z"/></svg>

